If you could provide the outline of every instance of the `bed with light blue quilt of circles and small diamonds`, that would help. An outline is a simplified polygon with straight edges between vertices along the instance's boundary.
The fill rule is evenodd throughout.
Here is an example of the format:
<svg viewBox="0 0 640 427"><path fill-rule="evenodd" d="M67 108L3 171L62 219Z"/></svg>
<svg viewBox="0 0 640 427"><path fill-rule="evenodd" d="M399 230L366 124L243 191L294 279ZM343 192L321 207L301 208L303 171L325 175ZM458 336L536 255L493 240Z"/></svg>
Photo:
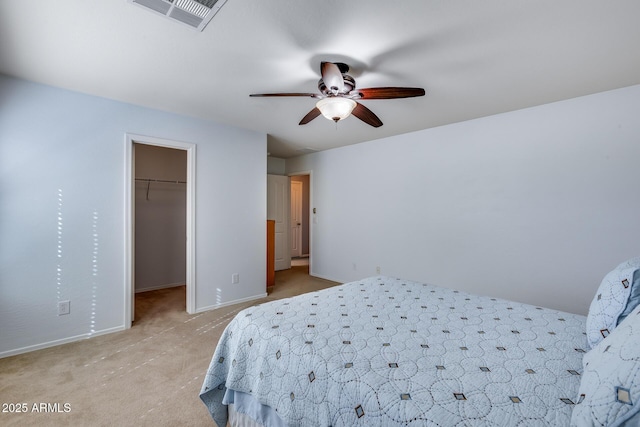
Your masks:
<svg viewBox="0 0 640 427"><path fill-rule="evenodd" d="M630 291L592 337L601 289L588 317L383 276L268 302L227 326L200 398L221 427L638 425L640 315Z"/></svg>

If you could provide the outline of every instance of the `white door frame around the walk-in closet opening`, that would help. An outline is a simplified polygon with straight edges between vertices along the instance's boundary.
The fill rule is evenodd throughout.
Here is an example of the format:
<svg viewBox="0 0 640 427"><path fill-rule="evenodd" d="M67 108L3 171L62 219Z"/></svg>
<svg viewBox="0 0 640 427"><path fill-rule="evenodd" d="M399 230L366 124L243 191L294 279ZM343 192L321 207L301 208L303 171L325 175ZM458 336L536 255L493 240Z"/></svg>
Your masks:
<svg viewBox="0 0 640 427"><path fill-rule="evenodd" d="M124 326L131 328L135 318L135 155L133 144L185 150L187 152L187 206L186 206L186 292L187 313L196 311L195 284L195 189L196 144L153 136L125 134L125 277L124 277Z"/></svg>

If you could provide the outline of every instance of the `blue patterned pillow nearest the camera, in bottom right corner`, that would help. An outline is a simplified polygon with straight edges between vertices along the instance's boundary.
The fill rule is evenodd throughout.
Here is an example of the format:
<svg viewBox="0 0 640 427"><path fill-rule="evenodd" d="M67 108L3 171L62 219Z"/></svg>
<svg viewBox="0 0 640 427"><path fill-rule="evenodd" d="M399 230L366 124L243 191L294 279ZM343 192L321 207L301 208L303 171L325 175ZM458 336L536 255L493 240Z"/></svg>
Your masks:
<svg viewBox="0 0 640 427"><path fill-rule="evenodd" d="M572 426L640 426L640 306L582 359Z"/></svg>

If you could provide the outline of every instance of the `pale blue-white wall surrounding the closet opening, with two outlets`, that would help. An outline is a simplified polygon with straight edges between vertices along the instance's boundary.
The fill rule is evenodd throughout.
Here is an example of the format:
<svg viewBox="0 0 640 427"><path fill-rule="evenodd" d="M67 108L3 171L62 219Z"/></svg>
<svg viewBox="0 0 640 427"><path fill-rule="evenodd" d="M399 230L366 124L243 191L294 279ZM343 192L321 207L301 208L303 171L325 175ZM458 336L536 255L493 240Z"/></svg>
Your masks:
<svg viewBox="0 0 640 427"><path fill-rule="evenodd" d="M266 135L0 75L0 357L125 327L127 132L197 144L197 310L265 293Z"/></svg>

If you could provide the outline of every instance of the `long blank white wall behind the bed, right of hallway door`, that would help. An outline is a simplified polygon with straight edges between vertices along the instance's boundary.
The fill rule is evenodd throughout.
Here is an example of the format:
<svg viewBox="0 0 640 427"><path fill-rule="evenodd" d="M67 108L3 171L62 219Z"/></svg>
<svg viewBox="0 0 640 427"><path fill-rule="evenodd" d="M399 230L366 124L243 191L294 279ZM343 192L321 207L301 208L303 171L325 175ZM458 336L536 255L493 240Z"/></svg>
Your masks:
<svg viewBox="0 0 640 427"><path fill-rule="evenodd" d="M313 171L311 273L586 314L640 255L638 111L634 86L289 159Z"/></svg>

